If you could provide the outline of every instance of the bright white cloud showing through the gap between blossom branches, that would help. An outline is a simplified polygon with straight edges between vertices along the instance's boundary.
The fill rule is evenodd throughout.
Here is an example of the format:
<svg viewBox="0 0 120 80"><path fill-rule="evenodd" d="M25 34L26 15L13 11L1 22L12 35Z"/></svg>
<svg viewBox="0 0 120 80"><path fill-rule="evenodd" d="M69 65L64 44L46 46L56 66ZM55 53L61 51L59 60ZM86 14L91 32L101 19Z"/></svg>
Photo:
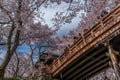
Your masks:
<svg viewBox="0 0 120 80"><path fill-rule="evenodd" d="M54 15L57 11L66 11L66 9L69 7L69 4L66 4L66 3L62 3L60 5L58 5L57 3L54 3L52 5L50 5L49 7L47 8L44 8L42 7L40 9L40 11L42 11L44 14L44 19L45 19L45 24L48 24L49 27L52 27L53 24L52 24L52 21L51 19L54 18ZM80 12L81 13L81 12ZM77 17L75 17L73 20L72 20L72 23L70 24L65 24L62 26L62 28L58 31L57 35L58 36L62 36L62 35L67 35L69 30L73 29L73 28L76 28L79 21L80 21L80 18L79 18L79 15L77 15Z"/></svg>

